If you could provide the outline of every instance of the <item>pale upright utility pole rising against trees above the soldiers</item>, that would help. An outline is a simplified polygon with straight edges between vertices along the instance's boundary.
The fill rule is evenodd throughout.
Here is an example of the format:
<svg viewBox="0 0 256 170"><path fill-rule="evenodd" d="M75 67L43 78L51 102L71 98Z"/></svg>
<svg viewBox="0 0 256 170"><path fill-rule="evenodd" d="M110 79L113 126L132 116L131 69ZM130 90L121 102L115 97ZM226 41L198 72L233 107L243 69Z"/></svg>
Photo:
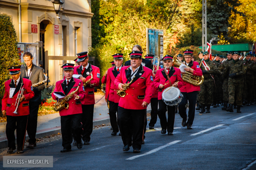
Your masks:
<svg viewBox="0 0 256 170"><path fill-rule="evenodd" d="M206 10L207 0L203 0L203 17L202 17L202 51L205 52L207 49L207 10Z"/></svg>

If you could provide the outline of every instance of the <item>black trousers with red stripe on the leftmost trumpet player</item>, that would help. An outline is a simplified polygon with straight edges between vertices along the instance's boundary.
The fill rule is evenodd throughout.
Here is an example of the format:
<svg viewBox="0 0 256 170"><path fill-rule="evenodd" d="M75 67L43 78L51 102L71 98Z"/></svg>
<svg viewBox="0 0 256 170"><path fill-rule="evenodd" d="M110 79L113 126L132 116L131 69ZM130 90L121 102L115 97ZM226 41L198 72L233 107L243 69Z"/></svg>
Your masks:
<svg viewBox="0 0 256 170"><path fill-rule="evenodd" d="M28 115L26 116L6 116L6 137L8 139L8 147L15 149L15 134L17 134L17 150L23 150L26 129L28 123Z"/></svg>

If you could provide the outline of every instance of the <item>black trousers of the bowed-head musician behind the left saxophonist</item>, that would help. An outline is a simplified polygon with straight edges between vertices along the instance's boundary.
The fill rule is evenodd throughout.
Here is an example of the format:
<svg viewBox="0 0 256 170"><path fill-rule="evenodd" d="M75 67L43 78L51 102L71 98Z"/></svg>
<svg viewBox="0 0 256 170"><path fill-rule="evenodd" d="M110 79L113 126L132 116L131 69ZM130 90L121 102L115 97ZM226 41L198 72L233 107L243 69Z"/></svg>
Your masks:
<svg viewBox="0 0 256 170"><path fill-rule="evenodd" d="M83 124L83 141L91 140L90 136L93 132L93 111L94 104L83 105L82 104L82 124Z"/></svg>

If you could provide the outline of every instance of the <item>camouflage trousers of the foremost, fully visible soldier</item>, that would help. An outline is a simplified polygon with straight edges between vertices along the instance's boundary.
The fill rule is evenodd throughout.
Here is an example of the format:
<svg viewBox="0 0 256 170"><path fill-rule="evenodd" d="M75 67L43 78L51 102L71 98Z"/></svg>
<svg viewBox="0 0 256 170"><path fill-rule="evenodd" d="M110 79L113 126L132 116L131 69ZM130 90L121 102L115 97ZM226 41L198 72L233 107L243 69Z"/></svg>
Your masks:
<svg viewBox="0 0 256 170"><path fill-rule="evenodd" d="M244 83L233 83L228 82L228 103L234 104L236 99L236 104L238 106L242 105L242 96L243 96L243 89ZM235 97L236 96L236 97Z"/></svg>

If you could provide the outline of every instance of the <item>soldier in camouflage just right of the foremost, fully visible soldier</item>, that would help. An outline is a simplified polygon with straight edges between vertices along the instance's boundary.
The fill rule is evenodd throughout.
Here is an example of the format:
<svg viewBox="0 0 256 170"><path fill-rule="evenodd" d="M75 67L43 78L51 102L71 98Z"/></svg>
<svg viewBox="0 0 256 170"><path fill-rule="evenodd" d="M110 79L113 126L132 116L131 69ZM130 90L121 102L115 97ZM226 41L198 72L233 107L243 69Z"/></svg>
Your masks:
<svg viewBox="0 0 256 170"><path fill-rule="evenodd" d="M253 102L253 88L251 87L254 86L254 78L253 74L256 69L256 65L253 61L253 57L251 57L250 53L245 54L245 66L247 68L246 70L246 83L245 83L245 88L246 88L246 100L247 100L247 106L250 106L250 104Z"/></svg>

